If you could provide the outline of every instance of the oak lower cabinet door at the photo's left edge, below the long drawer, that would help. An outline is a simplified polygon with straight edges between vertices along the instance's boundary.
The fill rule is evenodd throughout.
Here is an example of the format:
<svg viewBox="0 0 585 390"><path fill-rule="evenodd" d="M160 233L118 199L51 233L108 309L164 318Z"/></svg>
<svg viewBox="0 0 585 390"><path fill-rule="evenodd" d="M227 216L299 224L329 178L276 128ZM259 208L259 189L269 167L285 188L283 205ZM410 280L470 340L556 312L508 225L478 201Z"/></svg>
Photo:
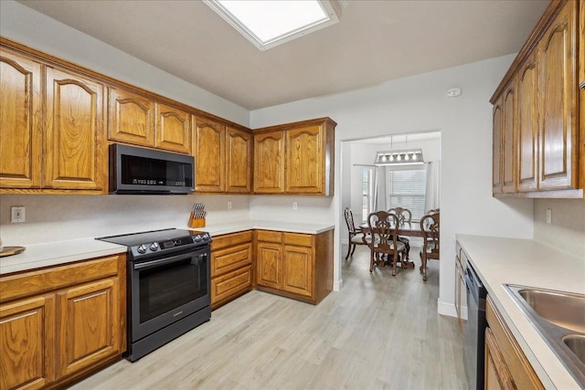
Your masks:
<svg viewBox="0 0 585 390"><path fill-rule="evenodd" d="M55 298L0 305L0 388L37 389L55 379Z"/></svg>

